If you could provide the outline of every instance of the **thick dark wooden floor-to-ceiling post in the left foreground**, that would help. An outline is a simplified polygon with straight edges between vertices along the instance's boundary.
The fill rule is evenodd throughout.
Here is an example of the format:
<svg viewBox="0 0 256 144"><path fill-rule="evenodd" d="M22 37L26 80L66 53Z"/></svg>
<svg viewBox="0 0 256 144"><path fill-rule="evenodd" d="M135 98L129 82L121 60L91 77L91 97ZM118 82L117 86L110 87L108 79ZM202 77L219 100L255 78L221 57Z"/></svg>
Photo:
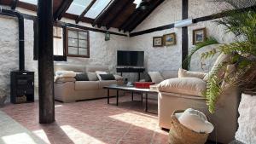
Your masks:
<svg viewBox="0 0 256 144"><path fill-rule="evenodd" d="M52 0L38 0L39 123L55 121Z"/></svg>

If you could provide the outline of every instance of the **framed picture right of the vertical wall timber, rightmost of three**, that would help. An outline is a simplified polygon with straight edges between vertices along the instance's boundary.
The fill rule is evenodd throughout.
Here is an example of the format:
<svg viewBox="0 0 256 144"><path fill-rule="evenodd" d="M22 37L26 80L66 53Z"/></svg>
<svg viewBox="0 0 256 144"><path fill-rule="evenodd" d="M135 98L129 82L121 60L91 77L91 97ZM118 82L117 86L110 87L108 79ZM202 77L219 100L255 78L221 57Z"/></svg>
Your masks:
<svg viewBox="0 0 256 144"><path fill-rule="evenodd" d="M207 28L200 28L193 30L193 45L205 42L207 39Z"/></svg>

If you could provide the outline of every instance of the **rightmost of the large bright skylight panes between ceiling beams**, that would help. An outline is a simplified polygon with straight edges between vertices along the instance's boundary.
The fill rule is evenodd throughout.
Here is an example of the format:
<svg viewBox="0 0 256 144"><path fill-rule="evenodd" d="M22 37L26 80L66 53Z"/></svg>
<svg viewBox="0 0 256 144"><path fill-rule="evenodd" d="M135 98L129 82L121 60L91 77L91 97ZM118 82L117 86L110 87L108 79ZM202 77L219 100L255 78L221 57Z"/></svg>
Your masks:
<svg viewBox="0 0 256 144"><path fill-rule="evenodd" d="M90 8L90 10L85 14L85 17L95 19L102 10L108 6L111 0L97 0L96 3Z"/></svg>

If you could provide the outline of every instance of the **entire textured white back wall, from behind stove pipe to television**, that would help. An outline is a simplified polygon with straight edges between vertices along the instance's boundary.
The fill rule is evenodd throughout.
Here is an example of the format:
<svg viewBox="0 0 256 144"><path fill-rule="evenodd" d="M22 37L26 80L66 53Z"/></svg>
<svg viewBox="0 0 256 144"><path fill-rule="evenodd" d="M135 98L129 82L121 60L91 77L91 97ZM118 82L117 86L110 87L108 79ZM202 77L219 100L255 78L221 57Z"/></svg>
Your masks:
<svg viewBox="0 0 256 144"><path fill-rule="evenodd" d="M25 20L25 68L35 72L35 99L38 99L38 60L33 60L33 21ZM19 69L19 28L18 21L12 17L0 15L0 89L7 89L9 95L9 72ZM105 34L90 32L90 59L68 57L68 63L87 66L108 66L115 72L117 49L127 49L129 37L111 35L105 41ZM131 48L131 47L130 47ZM8 97L9 101L9 97Z"/></svg>

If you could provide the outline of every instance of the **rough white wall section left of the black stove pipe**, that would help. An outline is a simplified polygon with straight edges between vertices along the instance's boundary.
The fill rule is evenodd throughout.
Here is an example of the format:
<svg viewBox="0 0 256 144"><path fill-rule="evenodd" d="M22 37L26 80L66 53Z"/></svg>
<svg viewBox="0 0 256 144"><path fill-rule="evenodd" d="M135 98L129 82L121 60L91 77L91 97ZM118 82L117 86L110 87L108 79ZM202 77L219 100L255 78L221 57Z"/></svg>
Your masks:
<svg viewBox="0 0 256 144"><path fill-rule="evenodd" d="M18 20L0 17L0 90L10 92L10 72L19 69ZM9 101L9 97L8 97Z"/></svg>

